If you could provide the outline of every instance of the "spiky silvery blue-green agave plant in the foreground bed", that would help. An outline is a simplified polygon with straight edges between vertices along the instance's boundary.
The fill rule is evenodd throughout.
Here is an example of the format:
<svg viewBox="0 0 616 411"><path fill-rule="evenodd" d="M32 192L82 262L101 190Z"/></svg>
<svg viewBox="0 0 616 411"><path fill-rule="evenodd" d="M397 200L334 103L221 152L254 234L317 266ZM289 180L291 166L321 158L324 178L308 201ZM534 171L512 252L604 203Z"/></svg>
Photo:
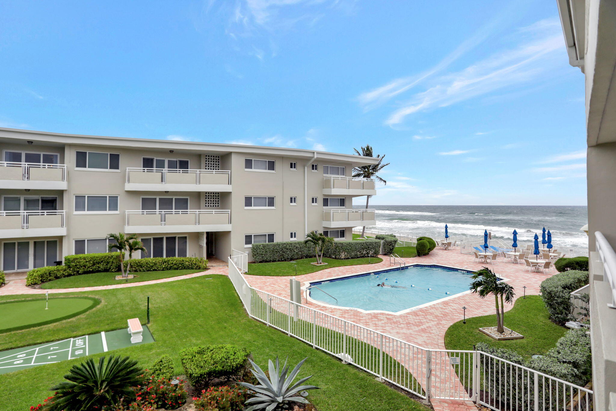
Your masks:
<svg viewBox="0 0 616 411"><path fill-rule="evenodd" d="M299 392L306 391L307 389L318 389L318 387L314 385L302 385L309 380L309 378L312 378L312 375L300 378L298 382L293 384L293 380L298 376L299 368L302 367L306 359L307 357L301 360L290 373L289 367L286 365L286 360L285 365L282 367L282 371L280 370L278 357L276 357L276 365L274 365L272 360L269 360L269 377L259 368L259 365L254 364L253 360L249 359L250 364L254 367L254 369L250 371L261 384L255 386L248 383L239 383L251 391L254 391L256 394L256 397L252 397L244 403L246 405L251 404L246 411L285 410L290 409L291 402L309 404L308 400L304 398L302 394L299 394Z"/></svg>

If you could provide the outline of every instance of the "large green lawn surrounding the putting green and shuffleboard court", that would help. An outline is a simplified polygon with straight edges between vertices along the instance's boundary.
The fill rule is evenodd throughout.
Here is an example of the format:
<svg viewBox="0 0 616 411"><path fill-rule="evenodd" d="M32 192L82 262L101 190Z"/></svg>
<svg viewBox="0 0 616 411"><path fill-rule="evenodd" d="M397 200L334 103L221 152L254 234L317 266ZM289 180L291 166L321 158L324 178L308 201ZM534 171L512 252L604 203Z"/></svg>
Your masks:
<svg viewBox="0 0 616 411"><path fill-rule="evenodd" d="M124 328L126 319L138 316L145 320L145 301L150 296L152 322L149 328L155 342L118 349L113 354L131 356L143 366L151 366L158 357L168 354L179 373L182 369L177 353L181 349L198 344L237 344L248 349L259 365L265 365L267 359L276 356L288 356L291 364L308 357L301 376L314 375L310 383L322 388L311 391L309 397L319 411L428 411L418 402L378 383L373 375L352 365L344 365L325 352L250 319L229 279L223 275L62 294L67 295L92 296L101 299L102 303L73 319L3 334L0 351ZM0 301L19 297L25 296L0 296ZM0 375L0 409L22 411L39 404L49 396L49 387L61 381L71 365L80 361L68 360Z"/></svg>

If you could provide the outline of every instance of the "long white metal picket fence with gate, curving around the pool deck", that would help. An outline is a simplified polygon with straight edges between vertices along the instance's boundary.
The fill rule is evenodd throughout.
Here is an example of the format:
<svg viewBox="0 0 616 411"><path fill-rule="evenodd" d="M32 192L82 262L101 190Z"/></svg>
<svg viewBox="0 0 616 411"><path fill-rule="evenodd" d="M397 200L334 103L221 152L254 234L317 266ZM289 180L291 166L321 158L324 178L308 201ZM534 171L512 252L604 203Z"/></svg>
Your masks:
<svg viewBox="0 0 616 411"><path fill-rule="evenodd" d="M591 411L593 391L482 351L428 349L229 279L248 315L408 393L471 400L496 411Z"/></svg>

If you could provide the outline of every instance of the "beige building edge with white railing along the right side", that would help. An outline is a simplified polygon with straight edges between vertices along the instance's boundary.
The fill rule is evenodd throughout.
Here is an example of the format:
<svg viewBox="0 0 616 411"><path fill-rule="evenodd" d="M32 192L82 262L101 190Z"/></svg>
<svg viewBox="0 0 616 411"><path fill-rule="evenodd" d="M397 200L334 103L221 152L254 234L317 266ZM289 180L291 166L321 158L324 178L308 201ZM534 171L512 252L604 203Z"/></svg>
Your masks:
<svg viewBox="0 0 616 411"><path fill-rule="evenodd" d="M557 0L569 63L585 74L595 411L616 409L616 1Z"/></svg>

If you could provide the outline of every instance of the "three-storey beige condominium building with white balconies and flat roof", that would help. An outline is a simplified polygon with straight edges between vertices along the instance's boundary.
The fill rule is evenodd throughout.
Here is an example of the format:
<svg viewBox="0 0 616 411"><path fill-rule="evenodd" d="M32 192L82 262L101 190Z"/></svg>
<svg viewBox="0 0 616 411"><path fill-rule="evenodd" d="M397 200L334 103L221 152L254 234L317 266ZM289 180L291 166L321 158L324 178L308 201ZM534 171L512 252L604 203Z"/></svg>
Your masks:
<svg viewBox="0 0 616 411"><path fill-rule="evenodd" d="M137 234L148 253L227 261L254 243L302 241L318 230L351 240L375 224L353 198L370 157L251 145L79 136L0 129L0 269L107 251Z"/></svg>

